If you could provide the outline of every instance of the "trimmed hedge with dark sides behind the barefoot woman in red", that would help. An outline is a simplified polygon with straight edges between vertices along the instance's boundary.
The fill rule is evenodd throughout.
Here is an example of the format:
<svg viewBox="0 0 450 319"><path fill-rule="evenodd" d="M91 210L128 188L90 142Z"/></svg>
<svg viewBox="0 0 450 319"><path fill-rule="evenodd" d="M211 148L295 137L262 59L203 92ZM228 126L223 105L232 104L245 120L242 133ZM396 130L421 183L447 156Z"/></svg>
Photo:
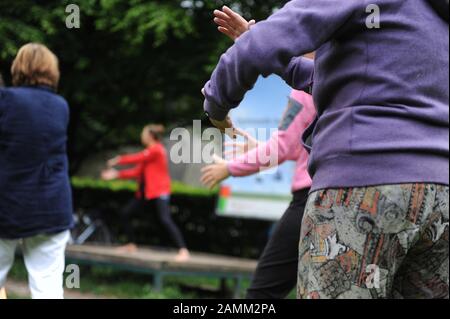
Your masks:
<svg viewBox="0 0 450 319"><path fill-rule="evenodd" d="M105 182L92 178L72 178L74 209L100 217L112 233L115 244L126 243L120 212L134 197L136 183ZM258 258L267 242L270 222L228 218L217 215L217 190L173 183L171 213L180 227L188 247L193 251ZM138 244L173 247L161 227L155 207L132 216L131 223Z"/></svg>

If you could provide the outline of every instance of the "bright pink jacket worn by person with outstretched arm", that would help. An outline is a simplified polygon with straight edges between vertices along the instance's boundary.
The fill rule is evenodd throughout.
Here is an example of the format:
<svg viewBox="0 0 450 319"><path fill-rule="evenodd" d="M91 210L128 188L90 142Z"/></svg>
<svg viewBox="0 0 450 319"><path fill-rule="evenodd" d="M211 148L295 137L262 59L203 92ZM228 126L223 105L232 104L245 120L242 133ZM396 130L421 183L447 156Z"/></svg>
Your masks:
<svg viewBox="0 0 450 319"><path fill-rule="evenodd" d="M264 168L281 165L285 161L296 161L295 176L292 181L292 191L311 187L312 181L308 174L308 153L301 143L301 136L316 116L311 95L293 90L291 101L283 116L280 128L269 141L260 143L255 149L228 163L232 176L248 176ZM278 151L276 151L278 149ZM268 156L258 156L267 154ZM271 158L276 156L277 158ZM251 160L250 160L251 159ZM270 165L276 163L276 165Z"/></svg>

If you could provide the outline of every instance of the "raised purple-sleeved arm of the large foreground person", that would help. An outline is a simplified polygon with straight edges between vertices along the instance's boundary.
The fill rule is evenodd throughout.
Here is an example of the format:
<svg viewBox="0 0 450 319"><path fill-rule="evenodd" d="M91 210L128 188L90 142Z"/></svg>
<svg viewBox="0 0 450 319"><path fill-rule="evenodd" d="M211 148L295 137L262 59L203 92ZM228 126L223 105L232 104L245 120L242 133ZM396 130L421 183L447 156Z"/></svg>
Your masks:
<svg viewBox="0 0 450 319"><path fill-rule="evenodd" d="M221 57L205 85L205 111L212 119L223 120L230 109L240 104L260 75L289 78L286 72L289 73L292 59L326 43L364 3L293 0L266 21L252 26Z"/></svg>

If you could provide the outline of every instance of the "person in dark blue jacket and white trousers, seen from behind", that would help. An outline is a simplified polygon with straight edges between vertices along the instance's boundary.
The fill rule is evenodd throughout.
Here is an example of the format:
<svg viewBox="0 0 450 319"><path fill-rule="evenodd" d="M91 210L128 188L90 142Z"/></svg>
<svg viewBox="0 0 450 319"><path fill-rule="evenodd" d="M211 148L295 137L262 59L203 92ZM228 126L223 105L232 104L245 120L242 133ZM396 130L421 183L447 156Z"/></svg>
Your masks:
<svg viewBox="0 0 450 319"><path fill-rule="evenodd" d="M66 155L69 107L56 94L58 59L23 46L11 88L0 88L0 287L22 244L31 295L63 298L64 252L73 226Z"/></svg>

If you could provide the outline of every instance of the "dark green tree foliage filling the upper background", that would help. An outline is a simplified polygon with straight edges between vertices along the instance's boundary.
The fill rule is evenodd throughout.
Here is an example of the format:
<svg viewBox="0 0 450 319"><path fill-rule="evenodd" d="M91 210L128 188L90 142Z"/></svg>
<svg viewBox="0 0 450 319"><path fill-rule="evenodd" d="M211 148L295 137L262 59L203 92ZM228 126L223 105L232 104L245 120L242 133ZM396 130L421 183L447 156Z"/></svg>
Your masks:
<svg viewBox="0 0 450 319"><path fill-rule="evenodd" d="M226 4L266 18L274 0L2 0L0 72L18 48L41 42L60 59L60 93L71 105L72 172L93 150L134 142L148 122L190 123L201 114L200 88L232 43L212 22ZM66 6L80 7L68 29Z"/></svg>

